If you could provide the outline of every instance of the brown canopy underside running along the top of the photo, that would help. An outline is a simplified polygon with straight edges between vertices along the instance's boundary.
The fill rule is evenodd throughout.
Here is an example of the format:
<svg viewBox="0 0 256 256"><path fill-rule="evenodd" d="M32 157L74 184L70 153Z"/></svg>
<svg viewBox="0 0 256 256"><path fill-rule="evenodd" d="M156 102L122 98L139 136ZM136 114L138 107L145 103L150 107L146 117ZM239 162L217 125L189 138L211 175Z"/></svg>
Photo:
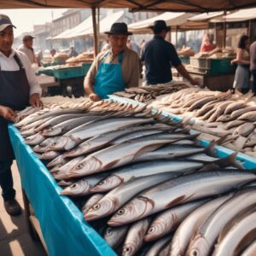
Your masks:
<svg viewBox="0 0 256 256"><path fill-rule="evenodd" d="M256 7L255 0L0 0L0 9L130 8L131 11L208 12Z"/></svg>

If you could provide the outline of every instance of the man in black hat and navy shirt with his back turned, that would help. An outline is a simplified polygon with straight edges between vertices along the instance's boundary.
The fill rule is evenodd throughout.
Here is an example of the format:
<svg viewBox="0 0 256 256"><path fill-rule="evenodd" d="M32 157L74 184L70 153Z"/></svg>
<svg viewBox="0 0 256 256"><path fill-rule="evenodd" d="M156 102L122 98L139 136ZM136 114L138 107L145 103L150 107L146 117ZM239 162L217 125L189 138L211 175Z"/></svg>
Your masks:
<svg viewBox="0 0 256 256"><path fill-rule="evenodd" d="M151 26L154 38L146 43L142 50L141 60L146 67L147 84L166 84L172 81L171 67L176 67L191 84L196 84L191 78L180 59L174 46L165 40L166 33L170 32L170 26L166 26L165 20L155 20Z"/></svg>

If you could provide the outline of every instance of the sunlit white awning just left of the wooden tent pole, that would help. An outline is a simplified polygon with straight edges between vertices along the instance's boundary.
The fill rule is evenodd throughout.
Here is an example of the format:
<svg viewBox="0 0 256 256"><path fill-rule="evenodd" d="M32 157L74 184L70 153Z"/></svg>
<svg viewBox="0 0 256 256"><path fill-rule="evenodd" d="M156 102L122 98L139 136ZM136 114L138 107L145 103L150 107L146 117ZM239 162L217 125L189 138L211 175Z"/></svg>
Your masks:
<svg viewBox="0 0 256 256"><path fill-rule="evenodd" d="M83 32L84 30L90 29L92 27L92 17L90 16L86 20L79 23L78 26L75 26L71 29L67 29L64 32L61 32L61 34L55 36L52 38L52 40L63 40L63 39L70 39L75 37L80 32Z"/></svg>

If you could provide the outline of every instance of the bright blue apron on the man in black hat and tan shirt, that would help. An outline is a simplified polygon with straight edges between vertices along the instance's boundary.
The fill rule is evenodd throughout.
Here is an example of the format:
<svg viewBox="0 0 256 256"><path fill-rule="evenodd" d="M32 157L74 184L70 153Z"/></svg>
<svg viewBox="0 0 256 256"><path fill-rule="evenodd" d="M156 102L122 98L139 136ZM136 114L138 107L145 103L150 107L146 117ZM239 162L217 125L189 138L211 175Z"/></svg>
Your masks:
<svg viewBox="0 0 256 256"><path fill-rule="evenodd" d="M116 91L125 90L125 83L123 81L121 64L123 61L123 52L119 53L119 62L104 63L109 51L104 56L103 61L96 73L96 84L93 89L97 96L102 99L108 98L108 95Z"/></svg>

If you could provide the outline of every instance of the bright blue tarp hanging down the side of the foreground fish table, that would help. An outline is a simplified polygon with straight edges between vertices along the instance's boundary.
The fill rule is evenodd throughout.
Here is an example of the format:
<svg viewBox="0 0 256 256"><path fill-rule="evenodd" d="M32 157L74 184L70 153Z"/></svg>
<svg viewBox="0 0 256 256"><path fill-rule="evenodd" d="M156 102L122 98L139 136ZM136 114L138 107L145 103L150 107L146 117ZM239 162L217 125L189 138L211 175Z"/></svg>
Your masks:
<svg viewBox="0 0 256 256"><path fill-rule="evenodd" d="M61 188L14 125L9 125L9 135L21 185L38 218L49 255L116 255L102 236L84 221L73 201L59 195Z"/></svg>

